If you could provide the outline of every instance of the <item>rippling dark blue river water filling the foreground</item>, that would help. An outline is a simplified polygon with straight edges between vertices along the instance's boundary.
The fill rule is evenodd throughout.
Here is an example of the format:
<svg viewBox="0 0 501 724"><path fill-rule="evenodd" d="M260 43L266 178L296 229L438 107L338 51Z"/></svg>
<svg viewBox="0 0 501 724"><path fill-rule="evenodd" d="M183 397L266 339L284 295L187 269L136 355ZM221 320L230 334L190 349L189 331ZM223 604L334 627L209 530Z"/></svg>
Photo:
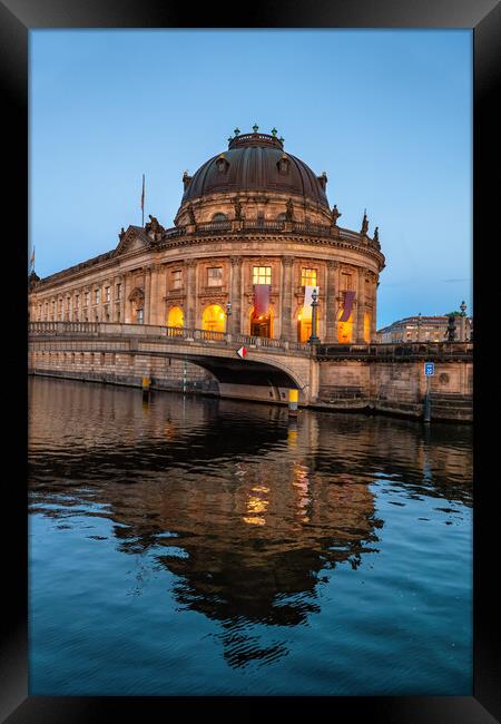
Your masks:
<svg viewBox="0 0 501 724"><path fill-rule="evenodd" d="M29 398L30 694L471 695L469 427Z"/></svg>

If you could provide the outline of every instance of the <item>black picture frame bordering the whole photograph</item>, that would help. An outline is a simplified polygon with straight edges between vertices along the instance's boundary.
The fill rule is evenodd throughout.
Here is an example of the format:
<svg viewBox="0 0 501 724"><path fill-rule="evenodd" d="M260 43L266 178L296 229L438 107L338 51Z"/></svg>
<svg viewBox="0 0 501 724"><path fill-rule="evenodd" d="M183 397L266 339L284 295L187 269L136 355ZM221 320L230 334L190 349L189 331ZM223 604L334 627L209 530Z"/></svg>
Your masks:
<svg viewBox="0 0 501 724"><path fill-rule="evenodd" d="M194 18L196 26L193 26ZM0 74L2 77L3 144L11 151L4 162L3 176L8 194L3 198L3 239L7 267L3 277L14 281L13 292L4 296L4 419L18 417L17 425L4 430L7 441L3 478L3 605L0 650L0 715L9 724L20 722L116 722L122 716L150 721L171 714L173 704L186 715L191 707L204 707L204 715L216 713L213 706L232 706L248 699L268 697L43 697L28 695L28 526L27 526L27 310L26 274L28 268L28 33L38 28L470 28L473 30L473 245L475 371L474 371L474 682L472 696L394 696L394 697L314 697L328 707L331 718L384 722L384 724L490 724L501 714L499 603L494 593L499 573L494 566L499 548L497 508L491 500L495 479L495 452L499 447L494 394L497 358L492 317L497 265L487 263L485 254L495 251L499 234L495 214L499 206L497 184L491 168L499 158L499 116L494 112L499 80L499 39L501 8L497 0L325 0L255 3L232 8L207 3L193 8L181 3L155 3L100 0L2 0L0 2ZM499 84L498 84L499 86ZM17 143L14 143L14 139ZM498 145L498 146L497 146ZM499 183L499 182L498 182ZM423 225L425 219L414 219ZM499 224L498 224L499 226ZM16 241L13 241L16 239ZM480 281L479 281L480 280ZM6 294L6 293L4 293ZM16 313L11 311L17 309ZM7 351L7 352L6 352ZM19 379L18 379L19 378ZM494 389L495 388L495 389ZM499 399L499 398L498 398ZM279 708L288 697L272 697ZM294 707L303 699L294 699ZM311 706L312 701L306 702ZM210 711L207 710L210 708ZM200 710L202 711L202 710ZM235 711L235 710L234 710ZM240 710L242 711L242 710ZM262 711L262 710L259 710ZM245 713L245 712L244 712Z"/></svg>

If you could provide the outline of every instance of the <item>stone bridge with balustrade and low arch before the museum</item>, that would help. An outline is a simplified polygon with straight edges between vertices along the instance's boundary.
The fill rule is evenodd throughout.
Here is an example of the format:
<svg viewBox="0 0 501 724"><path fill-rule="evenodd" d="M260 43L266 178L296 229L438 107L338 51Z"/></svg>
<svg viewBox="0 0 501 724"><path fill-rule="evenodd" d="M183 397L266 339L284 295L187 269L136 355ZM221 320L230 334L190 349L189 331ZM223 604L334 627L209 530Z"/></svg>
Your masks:
<svg viewBox="0 0 501 724"><path fill-rule="evenodd" d="M237 350L246 349L242 359ZM222 397L286 402L288 390L299 391L299 403L318 393L318 363L311 345L207 330L149 324L101 322L30 322L31 353L85 353L144 358L164 356L193 362L214 374ZM137 369L137 368L136 368Z"/></svg>

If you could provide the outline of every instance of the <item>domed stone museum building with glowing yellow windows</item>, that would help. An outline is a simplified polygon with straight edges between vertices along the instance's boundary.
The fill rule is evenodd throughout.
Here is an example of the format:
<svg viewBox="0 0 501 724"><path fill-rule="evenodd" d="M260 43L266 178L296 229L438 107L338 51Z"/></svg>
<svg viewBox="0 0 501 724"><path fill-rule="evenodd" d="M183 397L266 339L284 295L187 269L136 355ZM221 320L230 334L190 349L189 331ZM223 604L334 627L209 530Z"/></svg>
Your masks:
<svg viewBox="0 0 501 724"><path fill-rule="evenodd" d="M242 134L190 176L174 227L149 216L112 251L29 277L30 321L122 322L307 342L376 341L377 228L338 225L327 176L275 129Z"/></svg>

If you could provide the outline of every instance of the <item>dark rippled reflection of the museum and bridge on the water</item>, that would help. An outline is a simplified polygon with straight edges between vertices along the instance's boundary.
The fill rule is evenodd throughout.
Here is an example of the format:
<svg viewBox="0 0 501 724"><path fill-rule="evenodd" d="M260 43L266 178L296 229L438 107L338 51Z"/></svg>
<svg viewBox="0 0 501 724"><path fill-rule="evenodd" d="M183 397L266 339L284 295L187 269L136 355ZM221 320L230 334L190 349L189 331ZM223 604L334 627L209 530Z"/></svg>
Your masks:
<svg viewBox="0 0 501 724"><path fill-rule="evenodd" d="M306 625L325 570L377 554L381 479L399 505L471 503L469 431L451 444L453 432L37 379L31 511L111 520L120 551L150 555L175 575L177 605L218 623L228 664L269 663L286 645L248 624ZM144 565L136 595L147 576Z"/></svg>

